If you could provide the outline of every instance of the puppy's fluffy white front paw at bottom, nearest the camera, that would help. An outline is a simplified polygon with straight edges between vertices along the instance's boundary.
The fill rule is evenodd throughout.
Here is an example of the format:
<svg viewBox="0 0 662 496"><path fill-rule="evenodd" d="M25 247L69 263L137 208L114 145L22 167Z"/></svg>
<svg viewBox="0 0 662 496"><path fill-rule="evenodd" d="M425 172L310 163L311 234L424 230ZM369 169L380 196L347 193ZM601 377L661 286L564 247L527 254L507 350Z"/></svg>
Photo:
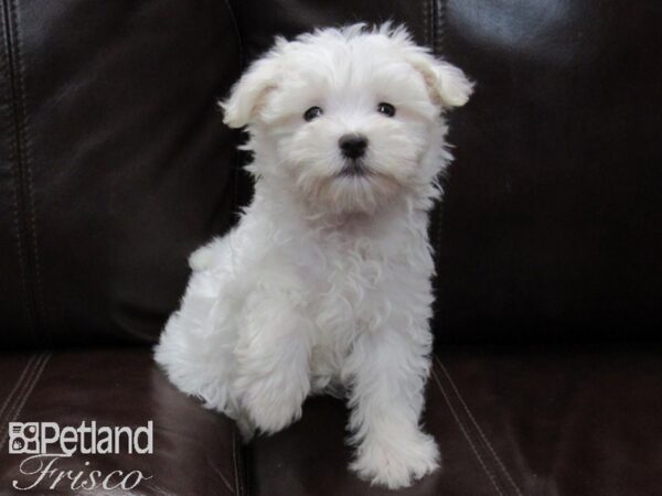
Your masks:
<svg viewBox="0 0 662 496"><path fill-rule="evenodd" d="M366 439L350 468L371 484L397 489L434 472L439 450L431 435L416 432L405 439Z"/></svg>

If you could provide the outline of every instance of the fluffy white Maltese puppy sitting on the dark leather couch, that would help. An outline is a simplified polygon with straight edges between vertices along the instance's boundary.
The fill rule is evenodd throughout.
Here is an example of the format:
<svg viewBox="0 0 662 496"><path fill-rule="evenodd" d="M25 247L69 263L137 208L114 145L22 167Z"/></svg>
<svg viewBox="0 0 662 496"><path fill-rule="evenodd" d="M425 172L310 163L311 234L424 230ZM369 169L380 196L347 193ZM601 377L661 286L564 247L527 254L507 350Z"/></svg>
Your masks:
<svg viewBox="0 0 662 496"><path fill-rule="evenodd" d="M404 28L278 39L222 104L248 130L255 196L190 258L156 348L170 380L246 436L296 421L311 393L342 393L359 476L396 488L434 471L428 212L450 160L444 110L470 94Z"/></svg>

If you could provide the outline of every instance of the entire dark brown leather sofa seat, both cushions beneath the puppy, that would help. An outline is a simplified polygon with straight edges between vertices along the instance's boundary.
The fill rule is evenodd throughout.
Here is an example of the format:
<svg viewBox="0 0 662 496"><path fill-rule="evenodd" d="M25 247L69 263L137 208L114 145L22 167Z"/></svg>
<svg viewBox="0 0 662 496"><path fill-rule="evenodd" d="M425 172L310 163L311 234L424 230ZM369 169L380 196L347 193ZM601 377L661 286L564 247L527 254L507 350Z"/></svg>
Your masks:
<svg viewBox="0 0 662 496"><path fill-rule="evenodd" d="M656 494L661 352L442 349L424 421L441 446L444 470L402 494ZM391 494L348 472L346 412L328 397L309 400L299 422L257 438L245 453L232 422L170 386L148 349L3 356L0 374L6 489L14 479L30 481L19 477L22 455L7 454L9 421L135 427L153 420L153 455L76 455L61 466L79 470L90 461L105 473L152 474L136 495Z"/></svg>

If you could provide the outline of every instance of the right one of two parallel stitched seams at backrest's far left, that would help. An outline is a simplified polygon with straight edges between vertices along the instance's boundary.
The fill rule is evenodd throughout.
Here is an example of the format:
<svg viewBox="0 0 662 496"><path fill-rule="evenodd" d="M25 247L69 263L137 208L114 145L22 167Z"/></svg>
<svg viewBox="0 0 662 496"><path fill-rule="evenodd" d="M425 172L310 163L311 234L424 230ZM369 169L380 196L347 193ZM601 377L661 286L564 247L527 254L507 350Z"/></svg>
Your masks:
<svg viewBox="0 0 662 496"><path fill-rule="evenodd" d="M22 140L22 151L23 151L23 157L22 157L22 162L23 162L23 169L25 171L25 177L26 177L26 191L25 191L25 196L26 198L24 198L24 202L26 203L25 205L25 211L30 211L30 229L31 229L31 240L32 240L32 256L33 256L33 260L32 263L34 266L34 300L35 300L35 313L36 313L36 321L38 323L40 321L42 321L42 323L45 323L46 320L46 309L45 309L45 304L44 304L44 299L43 299L43 284L42 284L42 277L41 277L41 263L40 263L40 256L39 256L39 242L38 242L38 231L36 231L36 205L35 205L35 201L34 201L34 187L33 187L33 180L32 180L32 169L30 168L30 140L28 139L28 134L30 131L30 125L29 125L29 119L28 119L28 105L26 105L26 88L25 88L25 78L24 78L24 73L25 73L25 67L24 67L24 63L23 63L23 48L21 45L21 34L20 34L20 23L19 23L19 14L18 14L18 3L17 0L12 0L12 24L13 24L13 30L14 30L14 37L15 37L15 44L14 44L14 51L15 51L15 60L18 63L18 71L15 74L15 77L19 82L19 87L20 87L20 106L19 106L19 111L20 111L20 116L18 117L17 120L17 126L18 126L18 131L19 131L19 137ZM21 157L19 157L19 160L21 160ZM47 325L43 325L43 328L45 330L50 330L50 327ZM35 331L38 331L35 328ZM38 331L39 332L39 331Z"/></svg>

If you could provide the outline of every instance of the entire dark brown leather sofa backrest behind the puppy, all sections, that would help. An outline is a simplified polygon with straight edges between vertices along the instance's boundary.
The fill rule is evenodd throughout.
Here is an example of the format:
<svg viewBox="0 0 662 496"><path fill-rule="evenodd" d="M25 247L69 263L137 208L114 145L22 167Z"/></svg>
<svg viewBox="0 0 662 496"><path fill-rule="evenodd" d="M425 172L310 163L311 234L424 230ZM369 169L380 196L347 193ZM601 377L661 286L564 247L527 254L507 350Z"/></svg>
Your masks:
<svg viewBox="0 0 662 496"><path fill-rule="evenodd" d="M6 3L1 347L153 342L249 200L215 100L276 34L385 20L477 82L430 226L438 342L662 324L656 2Z"/></svg>

